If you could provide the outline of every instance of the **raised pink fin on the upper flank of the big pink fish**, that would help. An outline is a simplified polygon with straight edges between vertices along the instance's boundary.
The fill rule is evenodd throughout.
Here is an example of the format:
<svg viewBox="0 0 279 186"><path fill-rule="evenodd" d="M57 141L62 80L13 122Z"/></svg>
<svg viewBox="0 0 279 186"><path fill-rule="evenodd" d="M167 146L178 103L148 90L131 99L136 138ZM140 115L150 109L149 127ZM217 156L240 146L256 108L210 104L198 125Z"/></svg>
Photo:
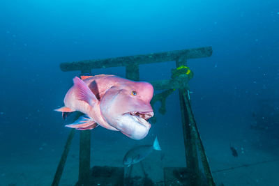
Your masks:
<svg viewBox="0 0 279 186"><path fill-rule="evenodd" d="M96 103L97 98L90 90L89 86L87 86L82 79L75 77L73 79L74 86L77 88L77 99L82 100L93 106Z"/></svg>

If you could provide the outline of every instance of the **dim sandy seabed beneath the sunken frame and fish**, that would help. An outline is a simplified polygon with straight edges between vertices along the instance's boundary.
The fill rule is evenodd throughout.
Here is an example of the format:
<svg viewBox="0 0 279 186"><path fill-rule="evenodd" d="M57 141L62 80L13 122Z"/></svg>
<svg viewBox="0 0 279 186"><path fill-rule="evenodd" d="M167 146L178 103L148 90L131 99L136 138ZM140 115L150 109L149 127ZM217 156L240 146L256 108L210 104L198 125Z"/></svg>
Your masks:
<svg viewBox="0 0 279 186"><path fill-rule="evenodd" d="M279 185L279 150L276 145L273 149L266 150L264 143L260 142L262 139L257 139L258 134L250 132L246 127L236 130L233 125L229 128L228 124L224 128L218 127L218 130L223 131L218 132L218 135L213 134L215 130L201 130L206 131L201 132L202 139L216 185ZM120 135L110 139L92 135L91 166L123 166L123 156L130 148L139 143L152 144L154 139L150 135L139 142ZM77 182L78 139L76 134L60 185L75 185ZM163 150L154 151L143 161L145 171L155 182L163 180L163 167L186 166L182 134L172 139L166 134L158 134L158 139ZM0 155L0 185L51 185L65 141ZM272 142L278 144L276 141ZM232 156L229 144L236 148L239 157ZM133 174L142 176L140 165L135 164L134 167ZM222 171L228 168L232 169Z"/></svg>

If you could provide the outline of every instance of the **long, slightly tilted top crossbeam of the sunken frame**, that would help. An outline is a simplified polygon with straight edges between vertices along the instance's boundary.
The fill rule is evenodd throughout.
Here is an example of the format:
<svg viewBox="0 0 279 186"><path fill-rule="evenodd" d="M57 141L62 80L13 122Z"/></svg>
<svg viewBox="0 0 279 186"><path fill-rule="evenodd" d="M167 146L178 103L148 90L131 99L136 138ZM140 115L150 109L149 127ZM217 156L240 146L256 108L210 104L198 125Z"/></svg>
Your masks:
<svg viewBox="0 0 279 186"><path fill-rule="evenodd" d="M145 55L123 56L110 59L96 59L61 63L62 71L91 70L93 68L109 68L117 66L127 66L130 64L160 63L166 61L176 61L179 58L197 59L209 57L212 54L212 47L201 47L195 49L181 49L169 52L158 52Z"/></svg>

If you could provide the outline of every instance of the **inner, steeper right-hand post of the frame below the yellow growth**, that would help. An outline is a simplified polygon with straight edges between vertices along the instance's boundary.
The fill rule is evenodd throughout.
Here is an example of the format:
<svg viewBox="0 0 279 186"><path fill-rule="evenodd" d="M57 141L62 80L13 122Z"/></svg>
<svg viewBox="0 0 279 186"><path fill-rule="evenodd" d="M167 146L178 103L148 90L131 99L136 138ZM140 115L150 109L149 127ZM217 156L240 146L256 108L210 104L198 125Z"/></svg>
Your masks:
<svg viewBox="0 0 279 186"><path fill-rule="evenodd" d="M186 58L179 58L176 61L176 68L181 65L186 65ZM185 88L179 88L179 101L181 107L181 120L183 127L183 137L184 137L184 146L186 153L186 164L188 170L192 171L192 184L199 185L199 161L197 157L197 146L195 141L195 136L193 135L193 127L191 126L189 117L188 117L188 108L186 107L185 100L183 98L183 92L186 92Z"/></svg>

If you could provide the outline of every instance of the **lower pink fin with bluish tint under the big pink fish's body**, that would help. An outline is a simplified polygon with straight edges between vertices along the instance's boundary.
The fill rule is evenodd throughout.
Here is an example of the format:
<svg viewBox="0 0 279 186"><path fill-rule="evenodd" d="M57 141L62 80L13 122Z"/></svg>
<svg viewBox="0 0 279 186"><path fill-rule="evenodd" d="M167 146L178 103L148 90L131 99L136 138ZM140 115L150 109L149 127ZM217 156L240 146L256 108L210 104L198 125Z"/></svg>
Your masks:
<svg viewBox="0 0 279 186"><path fill-rule="evenodd" d="M95 121L93 121L92 118L89 118L87 116L80 116L80 118L78 118L77 121L65 126L75 128L77 130L91 130L95 127L98 127L98 124Z"/></svg>

